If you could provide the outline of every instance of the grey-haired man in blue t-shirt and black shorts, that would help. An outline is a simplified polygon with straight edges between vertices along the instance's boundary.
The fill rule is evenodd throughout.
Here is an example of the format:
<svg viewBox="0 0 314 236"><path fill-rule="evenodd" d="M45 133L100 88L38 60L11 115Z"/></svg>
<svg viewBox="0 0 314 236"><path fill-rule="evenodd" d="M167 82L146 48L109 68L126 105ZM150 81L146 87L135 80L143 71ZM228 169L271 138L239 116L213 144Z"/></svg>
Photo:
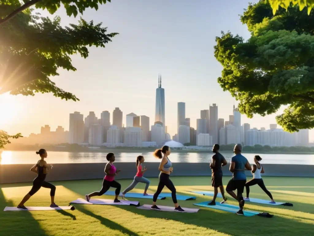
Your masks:
<svg viewBox="0 0 314 236"><path fill-rule="evenodd" d="M239 201L240 210L236 212L237 215L243 214L243 206L244 199L242 193L244 191L245 183L246 183L246 175L245 171L251 171L252 167L248 160L241 155L242 145L237 144L234 149L234 153L236 154L231 158L231 164L229 170L233 173L232 179L230 179L227 184L226 191L231 195L234 199ZM237 195L233 192L237 190Z"/></svg>

